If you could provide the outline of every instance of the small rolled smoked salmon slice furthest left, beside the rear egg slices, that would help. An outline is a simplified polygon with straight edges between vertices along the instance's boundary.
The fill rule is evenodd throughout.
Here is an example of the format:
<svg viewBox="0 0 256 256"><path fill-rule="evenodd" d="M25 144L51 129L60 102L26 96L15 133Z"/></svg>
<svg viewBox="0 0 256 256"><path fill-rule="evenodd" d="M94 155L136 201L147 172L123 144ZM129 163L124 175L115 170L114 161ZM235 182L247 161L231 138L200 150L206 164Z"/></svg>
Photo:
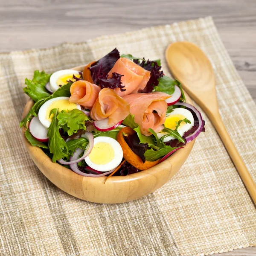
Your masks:
<svg viewBox="0 0 256 256"><path fill-rule="evenodd" d="M76 81L70 86L70 102L91 109L98 98L99 91L100 87L96 84L84 80Z"/></svg>

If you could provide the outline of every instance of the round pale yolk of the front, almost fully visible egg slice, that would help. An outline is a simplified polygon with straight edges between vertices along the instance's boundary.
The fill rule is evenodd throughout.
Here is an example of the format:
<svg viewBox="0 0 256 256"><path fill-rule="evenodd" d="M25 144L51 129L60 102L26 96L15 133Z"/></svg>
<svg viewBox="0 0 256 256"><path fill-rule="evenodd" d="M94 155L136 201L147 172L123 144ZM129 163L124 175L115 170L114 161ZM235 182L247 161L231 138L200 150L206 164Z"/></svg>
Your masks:
<svg viewBox="0 0 256 256"><path fill-rule="evenodd" d="M115 152L109 143L99 142L93 145L89 154L90 160L95 164L106 164L113 160Z"/></svg>

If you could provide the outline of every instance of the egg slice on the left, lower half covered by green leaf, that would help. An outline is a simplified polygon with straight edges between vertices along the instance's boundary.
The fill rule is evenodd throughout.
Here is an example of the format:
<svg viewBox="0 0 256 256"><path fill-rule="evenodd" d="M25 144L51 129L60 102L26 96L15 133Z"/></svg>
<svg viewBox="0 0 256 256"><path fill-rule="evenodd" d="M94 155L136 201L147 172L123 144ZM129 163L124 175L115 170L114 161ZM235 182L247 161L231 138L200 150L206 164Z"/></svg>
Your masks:
<svg viewBox="0 0 256 256"><path fill-rule="evenodd" d="M57 97L53 99L49 99L45 102L38 112L38 118L44 127L49 128L52 122L52 116L50 116L50 112L53 108L58 108L59 111L61 110L73 110L75 108L81 110L81 106L72 103L69 101L69 97Z"/></svg>

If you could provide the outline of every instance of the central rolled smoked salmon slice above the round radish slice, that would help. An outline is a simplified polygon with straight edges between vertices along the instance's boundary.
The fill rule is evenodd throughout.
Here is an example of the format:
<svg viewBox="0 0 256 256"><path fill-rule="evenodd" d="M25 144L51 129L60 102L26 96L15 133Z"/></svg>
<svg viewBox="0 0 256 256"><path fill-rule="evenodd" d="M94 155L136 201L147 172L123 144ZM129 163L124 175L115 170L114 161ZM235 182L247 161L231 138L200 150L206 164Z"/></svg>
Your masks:
<svg viewBox="0 0 256 256"><path fill-rule="evenodd" d="M130 106L113 89L103 88L90 111L93 120L109 118L108 124L116 124L130 113Z"/></svg>

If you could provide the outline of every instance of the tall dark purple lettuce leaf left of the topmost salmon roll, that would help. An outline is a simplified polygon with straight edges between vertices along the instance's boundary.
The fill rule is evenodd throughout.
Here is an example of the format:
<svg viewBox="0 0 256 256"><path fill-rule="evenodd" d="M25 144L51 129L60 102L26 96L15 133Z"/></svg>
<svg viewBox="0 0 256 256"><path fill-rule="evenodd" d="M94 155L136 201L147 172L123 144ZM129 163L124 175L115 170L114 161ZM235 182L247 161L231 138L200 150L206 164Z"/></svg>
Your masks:
<svg viewBox="0 0 256 256"><path fill-rule="evenodd" d="M119 51L115 48L107 55L93 63L89 68L93 82L98 84L99 76L103 73L108 73L119 58Z"/></svg>

